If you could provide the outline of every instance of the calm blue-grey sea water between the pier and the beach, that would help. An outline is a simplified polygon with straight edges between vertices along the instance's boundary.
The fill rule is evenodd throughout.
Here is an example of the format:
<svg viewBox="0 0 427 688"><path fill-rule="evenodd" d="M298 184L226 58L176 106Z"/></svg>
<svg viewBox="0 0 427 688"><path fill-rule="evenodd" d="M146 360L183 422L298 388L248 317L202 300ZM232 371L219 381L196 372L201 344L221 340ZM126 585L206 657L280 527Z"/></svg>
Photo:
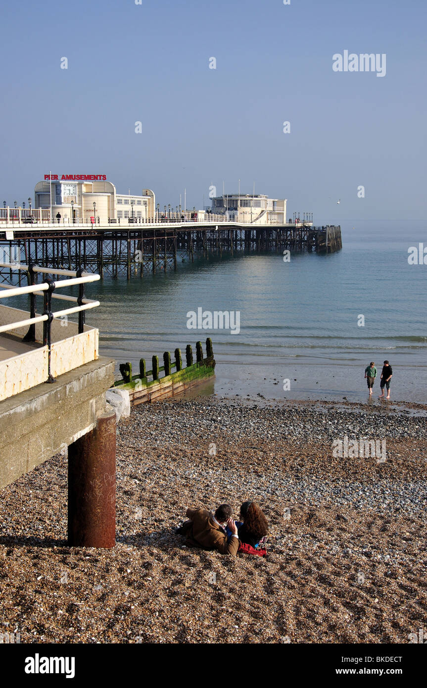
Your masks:
<svg viewBox="0 0 427 688"><path fill-rule="evenodd" d="M327 255L237 255L180 264L144 279L105 279L87 290L100 353L138 361L211 336L221 396L364 400L364 368L393 367L395 400L427 402L427 265L408 264L424 223L349 221L342 251ZM239 334L189 330L187 312L239 311ZM359 326L359 316L364 326ZM290 389L283 389L283 380ZM379 380L375 396L380 393Z"/></svg>

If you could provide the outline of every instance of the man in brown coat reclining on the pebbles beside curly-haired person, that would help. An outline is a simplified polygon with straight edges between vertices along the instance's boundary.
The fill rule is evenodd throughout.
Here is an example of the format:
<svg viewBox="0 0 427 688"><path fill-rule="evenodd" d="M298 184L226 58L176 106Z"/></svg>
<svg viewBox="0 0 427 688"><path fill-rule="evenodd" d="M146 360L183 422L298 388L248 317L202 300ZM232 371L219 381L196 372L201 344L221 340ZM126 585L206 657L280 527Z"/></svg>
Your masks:
<svg viewBox="0 0 427 688"><path fill-rule="evenodd" d="M231 518L230 504L220 504L215 514L206 509L187 509L186 516L190 519L178 528L179 535L186 535L186 544L191 547L203 547L206 550L218 550L221 555L237 555L239 538L237 537L236 522ZM232 532L230 541L227 539L223 526L228 525Z"/></svg>

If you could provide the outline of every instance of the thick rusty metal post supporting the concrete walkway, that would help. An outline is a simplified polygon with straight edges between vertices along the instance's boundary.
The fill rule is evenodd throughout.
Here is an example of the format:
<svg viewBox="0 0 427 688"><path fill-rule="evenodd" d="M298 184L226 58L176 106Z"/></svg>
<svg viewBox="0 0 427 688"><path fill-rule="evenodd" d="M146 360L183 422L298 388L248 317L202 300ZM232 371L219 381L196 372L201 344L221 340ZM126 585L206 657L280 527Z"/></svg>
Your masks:
<svg viewBox="0 0 427 688"><path fill-rule="evenodd" d="M68 545L116 545L116 413L68 447Z"/></svg>

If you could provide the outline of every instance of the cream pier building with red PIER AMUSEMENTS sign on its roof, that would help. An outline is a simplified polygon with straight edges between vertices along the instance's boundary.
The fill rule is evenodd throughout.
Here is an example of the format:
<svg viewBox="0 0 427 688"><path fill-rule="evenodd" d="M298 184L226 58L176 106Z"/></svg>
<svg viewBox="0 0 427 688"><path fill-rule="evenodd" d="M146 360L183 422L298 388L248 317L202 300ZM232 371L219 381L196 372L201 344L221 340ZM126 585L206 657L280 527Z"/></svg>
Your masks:
<svg viewBox="0 0 427 688"><path fill-rule="evenodd" d="M54 222L74 219L77 224L129 224L153 222L155 218L151 189L142 189L141 195L117 193L106 175L45 175L43 182L36 184L34 197L35 208L52 208Z"/></svg>

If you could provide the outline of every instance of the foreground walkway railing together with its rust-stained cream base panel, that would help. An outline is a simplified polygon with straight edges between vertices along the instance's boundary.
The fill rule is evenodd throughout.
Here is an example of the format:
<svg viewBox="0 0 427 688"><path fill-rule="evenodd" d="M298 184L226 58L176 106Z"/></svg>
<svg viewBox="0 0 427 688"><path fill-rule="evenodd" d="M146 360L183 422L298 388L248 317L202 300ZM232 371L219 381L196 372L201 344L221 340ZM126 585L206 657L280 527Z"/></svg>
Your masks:
<svg viewBox="0 0 427 688"><path fill-rule="evenodd" d="M4 355L3 357L0 356L0 375L1 364L7 363L6 369L12 369L12 374L14 374L14 367L17 370L19 369L19 383L17 383L16 379L14 379L13 384L10 383L13 389L16 388L17 391L23 391L23 389L28 389L34 386L34 384L41 382L54 383L54 374L67 372L69 369L98 358L98 330L85 326L85 312L96 308L100 305L100 302L85 298L84 290L85 284L97 281L100 279L100 275L83 272L83 270L41 268L36 264L0 263L1 268L8 268L10 271L25 271L30 282L28 286L20 287L4 283L0 284L0 299L3 300L3 303L6 303L6 299L30 294L29 313L28 311L0 305L0 335L1 333L14 335L12 338L6 338L6 340L3 337L1 342L0 350L4 352L10 347L11 351L9 353L12 355L8 360L6 360L7 355L6 359ZM69 279L54 280L47 277L47 279L43 279L43 282L37 283L36 280L39 274L43 276L57 275ZM54 294L54 291L57 289L72 286L78 286L78 297L67 294ZM43 297L43 313L40 315L36 314L36 297ZM70 305L68 308L53 310L52 300L54 299L73 305ZM30 317L22 317L27 314ZM68 322L68 316L72 314L78 314L78 324ZM17 319L17 316L21 317ZM41 325L43 325L43 330L40 329ZM52 339L52 328L54 325L55 341ZM64 331L61 330L61 327L64 325L69 327L67 336L64 336L65 333L63 334ZM23 345L28 345L28 347ZM53 374L51 369L52 352L55 354ZM37 361L30 354L37 354ZM22 356L24 356L25 362L21 360ZM29 369L28 365L32 365L33 369ZM41 369L36 369L37 367ZM6 372L9 371L7 370ZM26 382L23 382L22 378L25 378ZM31 384L31 381L28 382L28 378L32 378L34 384ZM12 392L12 394L16 394L16 391ZM2 393L0 389L0 399L6 398L6 396L10 396L7 390L3 390Z"/></svg>

